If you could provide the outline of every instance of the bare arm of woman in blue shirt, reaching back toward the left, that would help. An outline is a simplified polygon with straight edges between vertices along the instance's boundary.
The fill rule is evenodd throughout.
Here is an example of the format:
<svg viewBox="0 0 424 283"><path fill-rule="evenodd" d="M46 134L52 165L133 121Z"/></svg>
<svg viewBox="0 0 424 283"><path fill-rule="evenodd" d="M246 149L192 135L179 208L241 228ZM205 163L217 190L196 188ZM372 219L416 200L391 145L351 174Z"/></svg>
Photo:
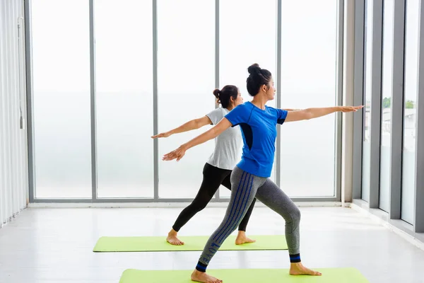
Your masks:
<svg viewBox="0 0 424 283"><path fill-rule="evenodd" d="M182 146L179 146L179 148L175 149L175 151L171 151L169 154L165 154L162 160L170 161L177 158L177 161L179 161L179 159L184 156L187 149L190 149L193 146L197 146L199 144L203 144L204 142L210 139L218 137L222 132L225 131L225 129L228 129L229 127L231 127L231 123L230 121L228 121L227 118L224 117L223 120L220 120L220 122L215 127L208 129L208 131L195 137L186 144L182 144Z"/></svg>

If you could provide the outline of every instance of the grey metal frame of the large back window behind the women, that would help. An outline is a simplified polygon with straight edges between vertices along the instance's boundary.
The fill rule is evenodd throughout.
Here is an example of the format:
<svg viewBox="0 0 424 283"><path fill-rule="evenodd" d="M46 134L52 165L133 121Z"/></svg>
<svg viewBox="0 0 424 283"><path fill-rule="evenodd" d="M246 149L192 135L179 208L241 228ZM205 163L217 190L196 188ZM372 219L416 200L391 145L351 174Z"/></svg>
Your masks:
<svg viewBox="0 0 424 283"><path fill-rule="evenodd" d="M91 175L92 175L92 194L91 198L36 198L35 197L35 149L34 149L34 117L33 117L33 54L32 54L32 30L31 30L31 0L25 1L25 61L26 61L26 86L28 103L28 179L29 179L29 199L33 203L57 202L57 203L103 203L103 202L191 202L193 199L169 199L159 197L159 177L158 177L158 140L153 140L153 198L98 198L97 193L97 150L96 150L96 108L95 108L95 18L94 1L89 0L89 21L90 21L90 127L91 127ZM281 84L281 6L282 0L276 0L277 3L277 83ZM338 1L337 14L337 78L336 78L336 103L341 103L343 99L343 14L345 1ZM153 14L153 134L158 134L158 0L152 0ZM216 50L215 50L215 84L219 87L220 76L220 25L219 25L219 0L215 0L216 13ZM277 91L277 104L281 108L281 91ZM341 149L342 149L342 117L336 116L335 122L335 142L336 142L336 162L335 162L335 196L334 197L293 197L295 202L329 202L341 200ZM281 135L278 127L277 146L276 146L276 183L281 183ZM227 197L221 198L219 190L211 202L228 202Z"/></svg>

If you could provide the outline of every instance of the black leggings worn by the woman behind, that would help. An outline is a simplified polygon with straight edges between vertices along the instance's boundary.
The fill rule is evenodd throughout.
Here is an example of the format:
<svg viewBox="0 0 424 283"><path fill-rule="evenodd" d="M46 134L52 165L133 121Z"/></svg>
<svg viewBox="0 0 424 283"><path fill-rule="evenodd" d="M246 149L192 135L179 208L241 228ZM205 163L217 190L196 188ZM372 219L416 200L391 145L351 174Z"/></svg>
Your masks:
<svg viewBox="0 0 424 283"><path fill-rule="evenodd" d="M177 220L175 221L174 226L172 226L172 229L175 231L179 231L179 229L181 229L182 226L184 226L190 219L192 219L192 217L197 212L200 212L206 207L206 204L211 201L213 195L215 195L215 192L218 190L220 185L223 185L227 187L228 190L231 190L231 170L220 169L206 163L204 166L203 174L204 179L201 183L199 192L197 192L193 202L182 210ZM239 231L246 231L247 222L249 222L250 214L252 214L254 202L256 202L256 198L253 200L252 204L250 204L245 217L242 219L242 222L239 225Z"/></svg>

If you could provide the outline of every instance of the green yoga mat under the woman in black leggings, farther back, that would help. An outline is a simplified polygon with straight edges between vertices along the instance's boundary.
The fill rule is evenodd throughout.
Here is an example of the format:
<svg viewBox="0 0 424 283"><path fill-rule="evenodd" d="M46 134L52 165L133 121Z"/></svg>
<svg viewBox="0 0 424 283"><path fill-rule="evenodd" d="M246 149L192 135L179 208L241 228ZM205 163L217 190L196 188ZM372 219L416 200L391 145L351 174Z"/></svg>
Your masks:
<svg viewBox="0 0 424 283"><path fill-rule="evenodd" d="M287 250L283 235L249 236L256 243L235 244L231 235L225 240L220 250ZM182 246L167 243L166 237L102 237L96 243L94 252L165 252L203 250L209 236L181 236Z"/></svg>

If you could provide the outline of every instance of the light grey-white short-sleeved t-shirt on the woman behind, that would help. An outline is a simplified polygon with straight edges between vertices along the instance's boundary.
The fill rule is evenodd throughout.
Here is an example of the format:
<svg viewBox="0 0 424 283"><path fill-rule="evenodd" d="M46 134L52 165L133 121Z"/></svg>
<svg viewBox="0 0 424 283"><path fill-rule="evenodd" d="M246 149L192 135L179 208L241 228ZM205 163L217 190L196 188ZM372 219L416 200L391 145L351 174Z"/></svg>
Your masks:
<svg viewBox="0 0 424 283"><path fill-rule="evenodd" d="M216 108L206 116L211 119L212 124L216 125L230 111L225 108ZM215 138L215 149L207 161L211 166L221 169L232 170L242 155L242 131L239 126L225 129Z"/></svg>

